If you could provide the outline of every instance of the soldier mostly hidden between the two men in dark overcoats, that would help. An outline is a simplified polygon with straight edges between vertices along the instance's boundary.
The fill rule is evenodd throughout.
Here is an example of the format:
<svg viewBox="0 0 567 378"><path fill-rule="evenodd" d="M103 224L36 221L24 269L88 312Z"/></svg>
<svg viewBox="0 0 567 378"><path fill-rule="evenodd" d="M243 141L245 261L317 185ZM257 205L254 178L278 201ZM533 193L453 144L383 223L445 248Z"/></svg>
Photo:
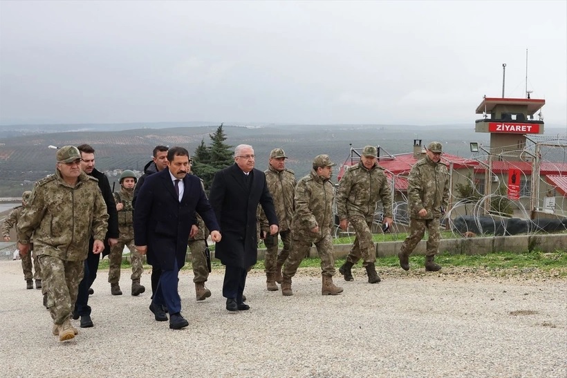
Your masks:
<svg viewBox="0 0 567 378"><path fill-rule="evenodd" d="M191 173L192 174L192 173ZM201 180L201 187L205 191L205 185ZM193 267L193 283L195 284L195 296L197 301L205 301L211 296L211 291L205 287L205 282L209 278L209 267L207 265L207 238L209 237L209 229L205 226L203 218L199 214L197 216L197 230L192 230L187 240L189 252L191 252Z"/></svg>

